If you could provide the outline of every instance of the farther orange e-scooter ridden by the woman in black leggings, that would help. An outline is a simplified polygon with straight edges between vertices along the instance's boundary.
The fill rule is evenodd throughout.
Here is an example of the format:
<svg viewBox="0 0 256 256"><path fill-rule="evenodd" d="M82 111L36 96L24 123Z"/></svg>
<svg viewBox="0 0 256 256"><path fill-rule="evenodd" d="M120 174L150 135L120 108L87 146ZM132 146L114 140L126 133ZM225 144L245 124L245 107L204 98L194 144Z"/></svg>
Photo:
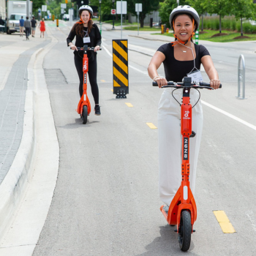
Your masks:
<svg viewBox="0 0 256 256"><path fill-rule="evenodd" d="M72 49L72 48L70 48ZM88 80L88 70L89 70L89 59L87 57L87 51L94 50L94 47L88 47L88 45L83 45L83 48L78 47L78 50L83 50L83 95L78 102L78 108L76 111L80 114L83 119L83 124L87 123L87 117L91 113L91 103L89 97L87 96L87 80ZM102 50L99 48L99 50Z"/></svg>

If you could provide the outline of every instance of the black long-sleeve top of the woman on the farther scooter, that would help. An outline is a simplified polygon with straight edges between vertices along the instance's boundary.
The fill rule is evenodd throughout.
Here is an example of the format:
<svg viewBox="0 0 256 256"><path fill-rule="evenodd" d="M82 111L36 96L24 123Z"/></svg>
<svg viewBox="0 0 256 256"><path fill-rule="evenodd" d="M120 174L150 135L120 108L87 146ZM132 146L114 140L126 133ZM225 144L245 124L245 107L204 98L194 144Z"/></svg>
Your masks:
<svg viewBox="0 0 256 256"><path fill-rule="evenodd" d="M87 30L87 28L85 28ZM91 42L86 43L89 47L95 47L97 45L101 45L102 43L102 36L99 32L99 29L95 23L92 24L91 32L89 34ZM71 29L69 36L67 37L67 46L69 46L69 42L72 42L72 40L75 38L75 46L76 47L83 47L85 45L83 43L83 37L80 36L80 34L76 34L75 28Z"/></svg>

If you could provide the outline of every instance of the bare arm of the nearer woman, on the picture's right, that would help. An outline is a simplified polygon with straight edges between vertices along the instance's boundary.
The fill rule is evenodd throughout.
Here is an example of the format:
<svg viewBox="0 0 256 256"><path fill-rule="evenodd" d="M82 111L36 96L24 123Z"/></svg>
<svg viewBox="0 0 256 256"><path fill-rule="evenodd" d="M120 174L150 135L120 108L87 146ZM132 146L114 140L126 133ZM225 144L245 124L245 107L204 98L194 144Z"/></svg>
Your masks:
<svg viewBox="0 0 256 256"><path fill-rule="evenodd" d="M214 62L211 59L211 56L206 55L201 58L201 62L203 64L204 69L206 70L206 74L208 78L211 80L211 87L214 89L218 89L220 85L219 75L217 70L214 67Z"/></svg>

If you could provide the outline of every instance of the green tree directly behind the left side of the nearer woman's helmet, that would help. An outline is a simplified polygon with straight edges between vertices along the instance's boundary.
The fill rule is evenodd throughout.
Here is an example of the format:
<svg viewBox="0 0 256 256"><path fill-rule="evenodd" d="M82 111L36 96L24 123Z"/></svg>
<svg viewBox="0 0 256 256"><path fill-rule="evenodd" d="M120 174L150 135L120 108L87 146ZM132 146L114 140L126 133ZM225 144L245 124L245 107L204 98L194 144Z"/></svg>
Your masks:
<svg viewBox="0 0 256 256"><path fill-rule="evenodd" d="M179 5L185 5L185 4L187 4L186 0L179 1ZM172 10L177 6L178 4L176 0L165 0L162 3L160 3L159 16L161 18L162 24L166 24L166 26L170 28L170 23L169 23L170 12L172 12Z"/></svg>

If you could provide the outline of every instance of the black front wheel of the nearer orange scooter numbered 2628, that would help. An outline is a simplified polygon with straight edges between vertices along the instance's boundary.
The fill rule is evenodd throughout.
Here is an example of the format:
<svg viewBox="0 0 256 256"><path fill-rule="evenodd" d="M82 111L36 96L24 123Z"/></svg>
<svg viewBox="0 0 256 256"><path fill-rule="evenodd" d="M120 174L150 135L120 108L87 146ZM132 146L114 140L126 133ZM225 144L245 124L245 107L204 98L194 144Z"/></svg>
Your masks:
<svg viewBox="0 0 256 256"><path fill-rule="evenodd" d="M178 244L181 248L181 251L187 252L190 246L191 241L191 216L189 211L182 211L181 213L181 222L178 227Z"/></svg>

